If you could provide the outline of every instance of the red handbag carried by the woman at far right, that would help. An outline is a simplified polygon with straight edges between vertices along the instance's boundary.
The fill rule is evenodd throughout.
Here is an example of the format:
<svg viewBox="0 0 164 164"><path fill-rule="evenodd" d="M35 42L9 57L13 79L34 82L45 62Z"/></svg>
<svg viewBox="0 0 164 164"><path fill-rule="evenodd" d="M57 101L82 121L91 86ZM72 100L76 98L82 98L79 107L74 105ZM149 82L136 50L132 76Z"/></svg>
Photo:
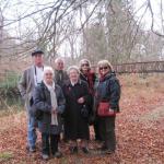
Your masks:
<svg viewBox="0 0 164 164"><path fill-rule="evenodd" d="M115 116L116 113L109 112L109 103L108 102L99 102L98 108L97 108L97 115L101 117L106 117L106 116Z"/></svg>

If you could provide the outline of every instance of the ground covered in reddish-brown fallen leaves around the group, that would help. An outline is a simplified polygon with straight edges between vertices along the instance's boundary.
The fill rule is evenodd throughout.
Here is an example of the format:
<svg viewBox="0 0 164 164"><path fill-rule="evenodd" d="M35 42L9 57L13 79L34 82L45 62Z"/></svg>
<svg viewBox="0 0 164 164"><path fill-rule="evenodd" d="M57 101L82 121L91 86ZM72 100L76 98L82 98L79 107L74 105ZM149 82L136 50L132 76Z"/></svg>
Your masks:
<svg viewBox="0 0 164 164"><path fill-rule="evenodd" d="M91 154L80 152L70 155L68 143L60 144L65 156L43 162L40 138L37 152L26 152L25 112L0 115L0 163L5 164L163 164L164 163L164 78L152 75L147 79L138 75L119 77L121 82L121 113L116 121L117 151L114 155L101 155L93 140L91 127Z"/></svg>

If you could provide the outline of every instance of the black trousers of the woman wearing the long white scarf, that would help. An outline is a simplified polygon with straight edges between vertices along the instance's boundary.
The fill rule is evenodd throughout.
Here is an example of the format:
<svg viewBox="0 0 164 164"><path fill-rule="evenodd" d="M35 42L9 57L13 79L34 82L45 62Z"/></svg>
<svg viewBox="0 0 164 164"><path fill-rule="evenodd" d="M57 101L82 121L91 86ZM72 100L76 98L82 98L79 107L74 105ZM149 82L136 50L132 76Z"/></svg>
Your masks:
<svg viewBox="0 0 164 164"><path fill-rule="evenodd" d="M43 154L54 155L58 151L59 134L42 133Z"/></svg>

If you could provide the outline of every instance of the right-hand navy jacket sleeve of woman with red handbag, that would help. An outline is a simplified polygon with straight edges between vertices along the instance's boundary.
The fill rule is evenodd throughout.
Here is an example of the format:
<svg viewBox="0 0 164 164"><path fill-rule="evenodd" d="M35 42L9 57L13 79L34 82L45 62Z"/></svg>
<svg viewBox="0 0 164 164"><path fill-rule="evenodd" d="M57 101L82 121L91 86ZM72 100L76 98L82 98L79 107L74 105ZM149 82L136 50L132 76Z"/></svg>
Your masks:
<svg viewBox="0 0 164 164"><path fill-rule="evenodd" d="M110 108L114 110L119 109L119 98L120 98L120 84L117 79L112 79L109 82L110 91Z"/></svg>

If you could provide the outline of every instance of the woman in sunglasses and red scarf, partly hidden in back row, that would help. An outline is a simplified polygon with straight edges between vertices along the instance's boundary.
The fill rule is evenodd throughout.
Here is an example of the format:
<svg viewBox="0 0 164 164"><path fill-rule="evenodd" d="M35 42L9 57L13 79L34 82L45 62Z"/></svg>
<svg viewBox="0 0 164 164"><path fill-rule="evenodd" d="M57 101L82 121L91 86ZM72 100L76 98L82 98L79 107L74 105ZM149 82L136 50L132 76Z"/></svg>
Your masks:
<svg viewBox="0 0 164 164"><path fill-rule="evenodd" d="M91 106L90 106L90 124L93 124L95 140L101 140L99 130L98 130L98 118L93 112L93 102L94 102L94 85L96 80L96 74L91 71L91 62L87 59L82 59L80 61L80 79L84 80L89 84L89 90L91 94ZM94 118L94 120L93 120Z"/></svg>

